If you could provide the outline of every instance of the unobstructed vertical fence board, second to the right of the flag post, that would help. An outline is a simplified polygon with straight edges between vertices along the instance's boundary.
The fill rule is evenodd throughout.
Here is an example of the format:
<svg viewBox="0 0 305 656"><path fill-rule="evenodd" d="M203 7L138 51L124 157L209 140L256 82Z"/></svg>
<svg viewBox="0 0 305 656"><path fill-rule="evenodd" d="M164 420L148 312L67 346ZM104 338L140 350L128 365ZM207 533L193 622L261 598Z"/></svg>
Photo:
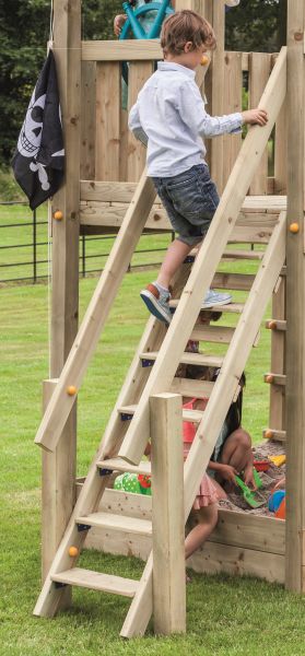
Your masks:
<svg viewBox="0 0 305 656"><path fill-rule="evenodd" d="M117 62L96 65L95 177L119 180L120 67Z"/></svg>

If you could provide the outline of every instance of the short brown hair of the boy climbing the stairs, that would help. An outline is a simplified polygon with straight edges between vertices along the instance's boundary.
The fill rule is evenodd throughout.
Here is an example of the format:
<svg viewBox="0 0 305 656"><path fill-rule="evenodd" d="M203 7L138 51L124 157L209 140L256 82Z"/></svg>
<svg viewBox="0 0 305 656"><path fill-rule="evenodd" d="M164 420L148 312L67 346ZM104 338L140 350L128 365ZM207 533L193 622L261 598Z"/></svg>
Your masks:
<svg viewBox="0 0 305 656"><path fill-rule="evenodd" d="M177 11L164 21L161 32L161 47L164 55L181 55L187 42L191 42L193 50L204 45L208 50L216 47L212 25L195 11L185 9Z"/></svg>

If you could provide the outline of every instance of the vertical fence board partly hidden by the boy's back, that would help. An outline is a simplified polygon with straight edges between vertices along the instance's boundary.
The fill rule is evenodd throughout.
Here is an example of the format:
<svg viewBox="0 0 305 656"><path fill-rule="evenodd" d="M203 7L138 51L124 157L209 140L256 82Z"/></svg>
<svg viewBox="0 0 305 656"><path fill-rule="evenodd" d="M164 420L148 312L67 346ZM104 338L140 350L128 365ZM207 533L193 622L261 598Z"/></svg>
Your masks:
<svg viewBox="0 0 305 656"><path fill-rule="evenodd" d="M130 63L128 73L128 109L130 110L132 105L138 98L138 94L141 91L144 82L153 73L153 67L151 62L139 61L137 63ZM145 166L146 161L146 149L138 141L131 131L128 133L128 151L127 151L127 175L128 180L136 181L140 179L142 171Z"/></svg>

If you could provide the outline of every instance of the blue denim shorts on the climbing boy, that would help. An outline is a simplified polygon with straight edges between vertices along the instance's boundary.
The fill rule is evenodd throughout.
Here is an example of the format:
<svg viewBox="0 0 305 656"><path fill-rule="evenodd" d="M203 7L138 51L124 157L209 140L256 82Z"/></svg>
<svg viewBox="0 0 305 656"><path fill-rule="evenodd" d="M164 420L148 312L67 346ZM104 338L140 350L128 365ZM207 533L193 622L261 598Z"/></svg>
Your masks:
<svg viewBox="0 0 305 656"><path fill-rule="evenodd" d="M207 164L173 177L152 179L177 238L189 246L199 244L220 201Z"/></svg>

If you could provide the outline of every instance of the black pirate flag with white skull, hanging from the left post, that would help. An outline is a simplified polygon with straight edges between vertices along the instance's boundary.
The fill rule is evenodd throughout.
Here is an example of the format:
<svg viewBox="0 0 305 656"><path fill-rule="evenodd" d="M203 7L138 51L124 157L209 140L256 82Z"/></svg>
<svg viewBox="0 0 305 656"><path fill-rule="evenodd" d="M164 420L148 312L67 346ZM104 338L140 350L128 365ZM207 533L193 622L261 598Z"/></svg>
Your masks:
<svg viewBox="0 0 305 656"><path fill-rule="evenodd" d="M12 165L35 210L63 180L64 150L55 58L51 50L34 89Z"/></svg>

